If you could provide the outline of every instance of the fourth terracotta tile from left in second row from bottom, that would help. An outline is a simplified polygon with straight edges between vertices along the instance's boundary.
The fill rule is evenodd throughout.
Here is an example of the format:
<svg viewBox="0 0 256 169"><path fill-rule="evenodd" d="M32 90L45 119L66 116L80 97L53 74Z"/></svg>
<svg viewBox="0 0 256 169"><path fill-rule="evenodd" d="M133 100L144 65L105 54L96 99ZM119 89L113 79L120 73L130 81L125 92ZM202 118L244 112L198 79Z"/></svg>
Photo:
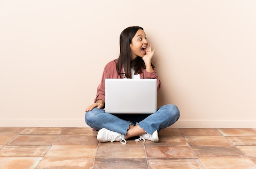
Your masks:
<svg viewBox="0 0 256 169"><path fill-rule="evenodd" d="M145 146L148 158L195 158L189 146Z"/></svg>

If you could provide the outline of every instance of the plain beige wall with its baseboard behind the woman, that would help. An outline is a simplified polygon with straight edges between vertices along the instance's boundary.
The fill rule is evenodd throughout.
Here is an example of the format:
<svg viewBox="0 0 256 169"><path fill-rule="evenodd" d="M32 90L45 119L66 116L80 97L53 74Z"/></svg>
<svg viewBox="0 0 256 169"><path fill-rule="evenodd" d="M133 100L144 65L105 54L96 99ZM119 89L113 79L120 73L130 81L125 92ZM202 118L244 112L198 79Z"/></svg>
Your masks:
<svg viewBox="0 0 256 169"><path fill-rule="evenodd" d="M173 127L256 128L255 0L0 0L0 126L87 127L119 34L144 27Z"/></svg>

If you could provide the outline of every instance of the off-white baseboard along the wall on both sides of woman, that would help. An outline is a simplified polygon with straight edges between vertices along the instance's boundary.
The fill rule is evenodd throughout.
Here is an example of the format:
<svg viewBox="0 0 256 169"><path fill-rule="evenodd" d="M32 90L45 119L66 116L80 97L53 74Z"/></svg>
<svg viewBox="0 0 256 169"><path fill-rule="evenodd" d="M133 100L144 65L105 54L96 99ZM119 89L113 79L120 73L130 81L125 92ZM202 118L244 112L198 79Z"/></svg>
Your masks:
<svg viewBox="0 0 256 169"><path fill-rule="evenodd" d="M84 120L0 119L0 127L89 127ZM173 128L256 128L256 120L178 120Z"/></svg>

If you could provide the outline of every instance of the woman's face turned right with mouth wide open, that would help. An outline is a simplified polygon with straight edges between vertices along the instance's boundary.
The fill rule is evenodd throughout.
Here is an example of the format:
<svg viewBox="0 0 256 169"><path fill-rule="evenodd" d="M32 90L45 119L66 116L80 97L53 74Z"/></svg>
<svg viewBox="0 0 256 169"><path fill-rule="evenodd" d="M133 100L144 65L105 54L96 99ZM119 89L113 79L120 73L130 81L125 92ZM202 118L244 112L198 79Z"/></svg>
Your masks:
<svg viewBox="0 0 256 169"><path fill-rule="evenodd" d="M146 47L148 45L146 39L145 32L139 29L130 44L131 60L134 60L138 56L142 58L146 54Z"/></svg>

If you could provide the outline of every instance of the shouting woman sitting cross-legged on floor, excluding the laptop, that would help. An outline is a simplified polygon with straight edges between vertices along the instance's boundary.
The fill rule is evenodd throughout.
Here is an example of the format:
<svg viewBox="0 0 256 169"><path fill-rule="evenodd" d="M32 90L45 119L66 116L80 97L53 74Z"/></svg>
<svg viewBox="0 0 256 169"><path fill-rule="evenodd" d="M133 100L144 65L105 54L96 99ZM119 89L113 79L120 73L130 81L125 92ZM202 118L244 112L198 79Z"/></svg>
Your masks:
<svg viewBox="0 0 256 169"><path fill-rule="evenodd" d="M142 139L158 142L158 132L179 119L180 111L175 105L164 105L153 114L110 114L104 111L106 78L157 79L157 89L161 87L151 63L154 51L146 40L143 28L128 27L121 32L119 58L104 68L97 97L85 110L85 122L99 130L97 139L100 142L120 141L126 144L128 138L135 136L140 136L136 141Z"/></svg>

